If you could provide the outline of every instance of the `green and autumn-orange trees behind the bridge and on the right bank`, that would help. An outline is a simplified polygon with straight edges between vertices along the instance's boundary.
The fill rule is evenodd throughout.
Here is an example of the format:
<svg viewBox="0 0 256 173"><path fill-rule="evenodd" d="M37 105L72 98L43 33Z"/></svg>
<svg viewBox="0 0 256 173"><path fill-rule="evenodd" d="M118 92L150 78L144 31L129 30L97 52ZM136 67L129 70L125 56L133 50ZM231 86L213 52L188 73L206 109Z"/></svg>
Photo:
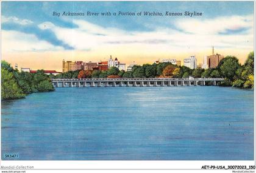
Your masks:
<svg viewBox="0 0 256 173"><path fill-rule="evenodd" d="M254 52L249 53L246 62L241 65L235 56L226 56L213 69L190 69L171 63L143 64L133 66L131 71L124 72L116 67L107 71L77 70L65 72L51 78L225 78L222 86L254 87Z"/></svg>

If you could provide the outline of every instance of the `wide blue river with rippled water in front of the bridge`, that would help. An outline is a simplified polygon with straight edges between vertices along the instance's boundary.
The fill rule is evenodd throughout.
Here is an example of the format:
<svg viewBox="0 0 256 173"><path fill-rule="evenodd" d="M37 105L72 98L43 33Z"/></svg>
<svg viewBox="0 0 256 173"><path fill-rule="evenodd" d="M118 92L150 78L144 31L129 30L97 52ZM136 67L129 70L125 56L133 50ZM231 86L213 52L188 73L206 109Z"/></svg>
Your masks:
<svg viewBox="0 0 256 173"><path fill-rule="evenodd" d="M253 90L66 87L1 112L2 160L254 160Z"/></svg>

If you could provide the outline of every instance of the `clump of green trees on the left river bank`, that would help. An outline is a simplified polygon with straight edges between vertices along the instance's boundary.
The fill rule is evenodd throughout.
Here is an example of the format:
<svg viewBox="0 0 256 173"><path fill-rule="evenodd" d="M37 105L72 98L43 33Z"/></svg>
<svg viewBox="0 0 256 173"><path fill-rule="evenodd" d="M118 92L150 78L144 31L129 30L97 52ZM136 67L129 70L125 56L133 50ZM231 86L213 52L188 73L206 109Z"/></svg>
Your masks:
<svg viewBox="0 0 256 173"><path fill-rule="evenodd" d="M51 79L43 70L19 72L1 61L1 100L24 98L29 93L53 91Z"/></svg>

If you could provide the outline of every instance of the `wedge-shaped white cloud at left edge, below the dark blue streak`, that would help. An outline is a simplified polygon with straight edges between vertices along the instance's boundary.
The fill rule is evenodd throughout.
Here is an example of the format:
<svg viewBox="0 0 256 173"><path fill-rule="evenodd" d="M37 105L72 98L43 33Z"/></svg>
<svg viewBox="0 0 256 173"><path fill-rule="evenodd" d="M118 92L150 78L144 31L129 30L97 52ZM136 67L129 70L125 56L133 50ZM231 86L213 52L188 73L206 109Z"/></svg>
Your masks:
<svg viewBox="0 0 256 173"><path fill-rule="evenodd" d="M17 31L2 30L2 52L34 52L45 50L63 50L47 41L38 39L35 35Z"/></svg>

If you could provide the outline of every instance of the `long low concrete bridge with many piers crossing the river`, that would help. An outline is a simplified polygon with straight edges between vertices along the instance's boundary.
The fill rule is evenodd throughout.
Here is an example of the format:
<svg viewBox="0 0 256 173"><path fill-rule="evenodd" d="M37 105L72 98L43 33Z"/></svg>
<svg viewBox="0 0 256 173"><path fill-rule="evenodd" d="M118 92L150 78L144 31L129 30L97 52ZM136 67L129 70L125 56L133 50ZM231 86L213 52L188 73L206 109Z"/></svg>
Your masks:
<svg viewBox="0 0 256 173"><path fill-rule="evenodd" d="M52 79L54 87L158 87L158 86L205 86L211 82L216 86L223 78L95 78Z"/></svg>

